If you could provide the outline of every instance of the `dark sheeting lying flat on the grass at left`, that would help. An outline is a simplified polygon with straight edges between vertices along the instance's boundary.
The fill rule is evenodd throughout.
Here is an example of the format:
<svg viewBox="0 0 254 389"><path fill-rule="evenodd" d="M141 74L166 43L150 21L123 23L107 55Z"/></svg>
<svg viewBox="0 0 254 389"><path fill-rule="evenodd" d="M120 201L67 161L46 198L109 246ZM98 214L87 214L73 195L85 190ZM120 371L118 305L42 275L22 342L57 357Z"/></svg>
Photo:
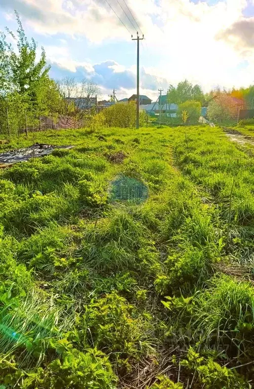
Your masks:
<svg viewBox="0 0 254 389"><path fill-rule="evenodd" d="M16 149L0 154L0 164L13 164L28 161L33 157L44 157L52 153L54 149L72 149L74 146L53 146L35 143L25 149Z"/></svg>

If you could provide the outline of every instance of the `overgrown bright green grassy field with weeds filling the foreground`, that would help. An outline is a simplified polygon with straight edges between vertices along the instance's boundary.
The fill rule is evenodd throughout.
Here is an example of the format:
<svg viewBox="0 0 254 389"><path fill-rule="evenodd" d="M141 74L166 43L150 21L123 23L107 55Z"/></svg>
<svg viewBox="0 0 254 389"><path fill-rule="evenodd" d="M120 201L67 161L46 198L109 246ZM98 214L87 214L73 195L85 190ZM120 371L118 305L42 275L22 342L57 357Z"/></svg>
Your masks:
<svg viewBox="0 0 254 389"><path fill-rule="evenodd" d="M247 150L162 126L0 150L34 142L76 147L1 170L1 389L251 387Z"/></svg>

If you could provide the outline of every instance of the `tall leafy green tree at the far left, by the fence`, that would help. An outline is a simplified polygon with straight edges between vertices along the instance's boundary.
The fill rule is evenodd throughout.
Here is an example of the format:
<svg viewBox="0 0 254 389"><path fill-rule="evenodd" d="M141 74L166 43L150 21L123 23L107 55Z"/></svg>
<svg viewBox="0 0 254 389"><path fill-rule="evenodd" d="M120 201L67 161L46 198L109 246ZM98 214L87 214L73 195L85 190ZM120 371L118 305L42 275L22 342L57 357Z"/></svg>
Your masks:
<svg viewBox="0 0 254 389"><path fill-rule="evenodd" d="M44 48L38 60L38 45L33 38L28 41L15 13L17 33L6 28L8 36L0 36L0 127L8 137L19 135L27 125L39 127L39 115L61 113L64 103L57 84L49 79Z"/></svg>

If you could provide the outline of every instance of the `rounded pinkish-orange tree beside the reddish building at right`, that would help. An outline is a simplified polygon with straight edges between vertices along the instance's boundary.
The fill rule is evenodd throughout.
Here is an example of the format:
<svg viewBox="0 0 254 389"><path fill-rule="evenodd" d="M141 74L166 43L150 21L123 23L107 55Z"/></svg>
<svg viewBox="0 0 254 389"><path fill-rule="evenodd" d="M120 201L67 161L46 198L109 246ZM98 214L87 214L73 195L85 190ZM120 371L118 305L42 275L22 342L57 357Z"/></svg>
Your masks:
<svg viewBox="0 0 254 389"><path fill-rule="evenodd" d="M232 96L220 94L209 102L207 116L211 121L223 123L225 120L236 120L238 111L239 104Z"/></svg>

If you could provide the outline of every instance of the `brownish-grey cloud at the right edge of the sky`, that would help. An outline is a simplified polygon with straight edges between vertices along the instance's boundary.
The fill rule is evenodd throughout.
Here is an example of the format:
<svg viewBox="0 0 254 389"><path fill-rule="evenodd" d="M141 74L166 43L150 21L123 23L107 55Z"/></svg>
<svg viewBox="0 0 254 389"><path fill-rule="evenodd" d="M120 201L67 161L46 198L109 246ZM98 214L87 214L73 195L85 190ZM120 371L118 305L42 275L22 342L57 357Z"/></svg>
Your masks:
<svg viewBox="0 0 254 389"><path fill-rule="evenodd" d="M216 39L231 42L231 37L240 41L242 47L237 45L237 49L254 48L254 18L242 19L233 23L229 28L217 34Z"/></svg>

